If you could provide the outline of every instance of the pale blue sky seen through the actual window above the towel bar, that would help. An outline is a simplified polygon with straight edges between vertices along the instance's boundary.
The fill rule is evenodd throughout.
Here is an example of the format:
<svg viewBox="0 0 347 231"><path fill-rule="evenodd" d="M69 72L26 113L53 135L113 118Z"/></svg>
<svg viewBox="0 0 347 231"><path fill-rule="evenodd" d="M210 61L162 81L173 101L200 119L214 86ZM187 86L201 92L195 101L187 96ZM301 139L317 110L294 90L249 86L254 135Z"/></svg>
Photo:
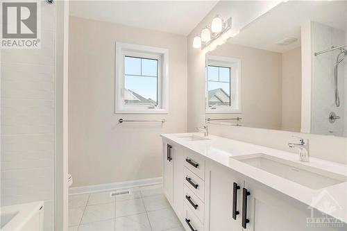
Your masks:
<svg viewBox="0 0 347 231"><path fill-rule="evenodd" d="M157 102L158 60L126 56L124 65L125 88Z"/></svg>

